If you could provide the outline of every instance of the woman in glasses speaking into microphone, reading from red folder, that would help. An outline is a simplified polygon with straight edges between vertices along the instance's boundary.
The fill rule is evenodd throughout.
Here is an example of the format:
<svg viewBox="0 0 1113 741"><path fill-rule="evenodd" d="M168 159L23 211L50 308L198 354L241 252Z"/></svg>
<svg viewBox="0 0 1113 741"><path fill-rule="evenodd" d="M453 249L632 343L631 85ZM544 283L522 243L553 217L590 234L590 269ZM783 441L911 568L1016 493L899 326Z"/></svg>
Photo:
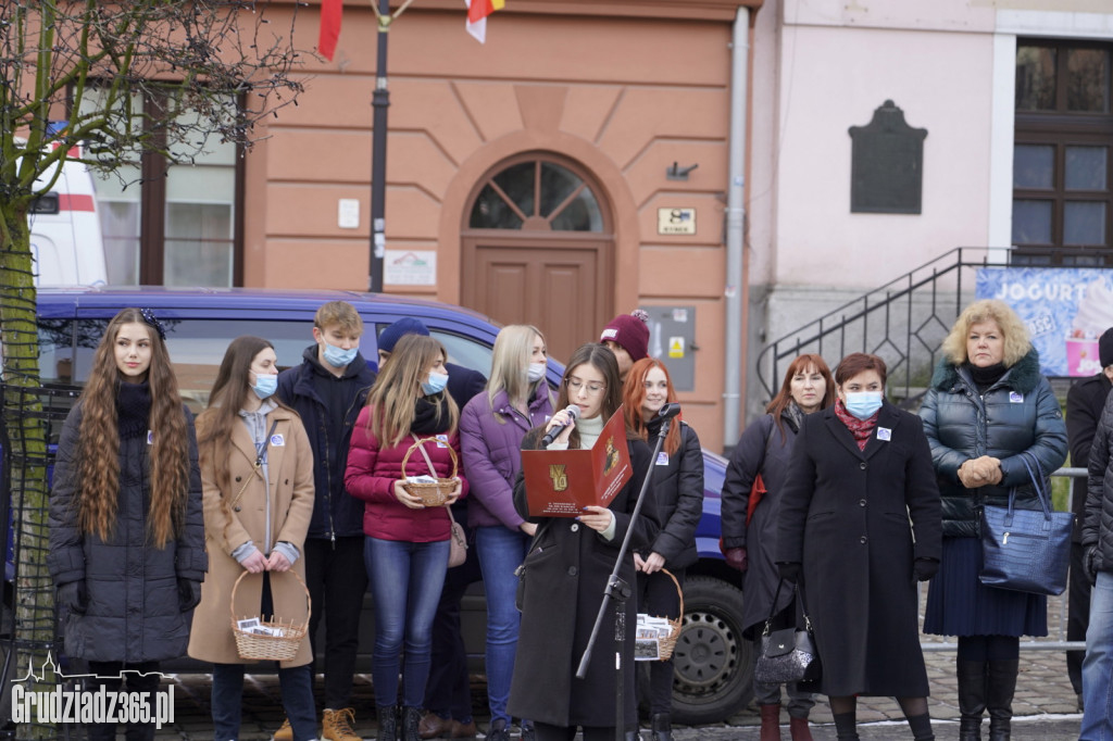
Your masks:
<svg viewBox="0 0 1113 741"><path fill-rule="evenodd" d="M568 406L580 408L570 418ZM556 397L561 409L546 424L531 429L522 449L541 447L543 436L556 425L563 431L546 449L587 448L600 437L603 425L622 404L622 384L614 353L603 345L582 345L569 360ZM614 441L621 445L622 441ZM614 738L615 672L609 645L614 635L613 611L603 616L600 636L587 675L577 679L580 656L587 648L603 590L619 549L633 528L631 549L649 547L657 537L660 520L657 498L647 492L637 521L631 514L638 501L647 470L649 447L632 431L627 431L631 478L607 506L589 506L574 518L538 517L530 514L524 477L514 483L514 507L526 522L538 525L533 545L522 564L522 625L514 660L508 712L533 720L538 741L567 741L583 729L585 741ZM619 576L633 586L633 553L627 552ZM634 703L633 631L637 600L627 600L626 643L622 655L624 733L634 734L638 713ZM629 729L629 730L627 730Z"/></svg>

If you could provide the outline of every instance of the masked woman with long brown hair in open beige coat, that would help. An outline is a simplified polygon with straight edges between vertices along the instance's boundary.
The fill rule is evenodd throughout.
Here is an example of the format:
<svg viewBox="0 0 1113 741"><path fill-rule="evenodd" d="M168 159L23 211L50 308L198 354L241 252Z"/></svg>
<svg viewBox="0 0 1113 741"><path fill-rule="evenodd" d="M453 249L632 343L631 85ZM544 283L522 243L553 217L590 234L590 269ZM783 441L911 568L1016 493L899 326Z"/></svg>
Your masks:
<svg viewBox="0 0 1113 741"><path fill-rule="evenodd" d="M308 619L301 556L313 516L313 449L297 413L274 397L276 363L266 339L232 340L209 407L197 418L210 571L194 615L189 655L213 662L218 741L239 737L244 665L250 663L239 658L229 614L274 615L296 624ZM236 587L245 571L250 575ZM312 661L305 636L297 654L278 665L294 741L317 737Z"/></svg>

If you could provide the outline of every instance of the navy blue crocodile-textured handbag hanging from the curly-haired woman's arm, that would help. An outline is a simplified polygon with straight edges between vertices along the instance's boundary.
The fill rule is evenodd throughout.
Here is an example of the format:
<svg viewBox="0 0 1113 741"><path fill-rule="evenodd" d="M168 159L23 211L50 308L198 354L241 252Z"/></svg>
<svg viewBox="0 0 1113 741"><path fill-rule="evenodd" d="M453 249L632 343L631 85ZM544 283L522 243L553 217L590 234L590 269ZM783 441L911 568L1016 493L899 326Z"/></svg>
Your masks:
<svg viewBox="0 0 1113 741"><path fill-rule="evenodd" d="M1040 510L1017 510L1016 490L1008 493L1008 506L982 507L982 573L986 586L1033 594L1062 594L1071 564L1071 531L1074 514L1052 512L1043 470L1027 453L1024 467L1040 497Z"/></svg>

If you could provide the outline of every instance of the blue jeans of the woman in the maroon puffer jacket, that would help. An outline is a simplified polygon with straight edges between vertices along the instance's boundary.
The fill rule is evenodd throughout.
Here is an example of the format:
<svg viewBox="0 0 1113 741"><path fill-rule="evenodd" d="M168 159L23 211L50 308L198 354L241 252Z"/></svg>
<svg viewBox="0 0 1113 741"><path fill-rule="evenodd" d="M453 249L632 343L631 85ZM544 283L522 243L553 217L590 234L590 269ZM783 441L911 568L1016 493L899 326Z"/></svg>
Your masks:
<svg viewBox="0 0 1113 741"><path fill-rule="evenodd" d="M368 536L363 546L371 594L375 599L375 654L371 676L375 702L420 708L429 679L433 615L449 570L449 541L410 543ZM402 656L403 644L405 658Z"/></svg>

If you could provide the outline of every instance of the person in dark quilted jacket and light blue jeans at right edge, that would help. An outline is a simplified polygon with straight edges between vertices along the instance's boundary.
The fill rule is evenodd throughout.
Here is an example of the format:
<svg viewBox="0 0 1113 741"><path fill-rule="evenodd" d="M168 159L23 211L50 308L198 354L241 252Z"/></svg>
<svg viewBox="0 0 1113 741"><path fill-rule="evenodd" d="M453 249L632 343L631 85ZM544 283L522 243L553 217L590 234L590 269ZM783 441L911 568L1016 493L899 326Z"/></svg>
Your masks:
<svg viewBox="0 0 1113 741"><path fill-rule="evenodd" d="M1082 545L1094 586L1082 663L1085 709L1078 741L1113 738L1113 394L1105 399L1090 447L1089 474Z"/></svg>

